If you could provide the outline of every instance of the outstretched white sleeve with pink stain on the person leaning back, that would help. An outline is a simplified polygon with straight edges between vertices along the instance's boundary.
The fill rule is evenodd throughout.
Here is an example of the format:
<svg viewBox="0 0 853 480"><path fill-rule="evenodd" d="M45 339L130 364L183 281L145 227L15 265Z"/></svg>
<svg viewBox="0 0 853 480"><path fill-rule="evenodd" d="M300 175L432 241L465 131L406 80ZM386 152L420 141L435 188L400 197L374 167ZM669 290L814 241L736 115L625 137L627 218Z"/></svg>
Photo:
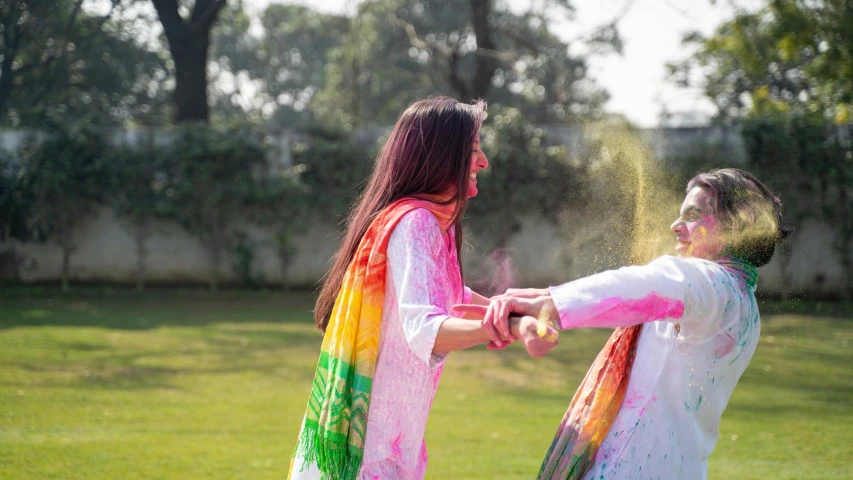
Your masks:
<svg viewBox="0 0 853 480"><path fill-rule="evenodd" d="M674 321L709 335L720 327L731 293L718 280L722 267L706 260L660 257L551 287L560 328L627 327Z"/></svg>

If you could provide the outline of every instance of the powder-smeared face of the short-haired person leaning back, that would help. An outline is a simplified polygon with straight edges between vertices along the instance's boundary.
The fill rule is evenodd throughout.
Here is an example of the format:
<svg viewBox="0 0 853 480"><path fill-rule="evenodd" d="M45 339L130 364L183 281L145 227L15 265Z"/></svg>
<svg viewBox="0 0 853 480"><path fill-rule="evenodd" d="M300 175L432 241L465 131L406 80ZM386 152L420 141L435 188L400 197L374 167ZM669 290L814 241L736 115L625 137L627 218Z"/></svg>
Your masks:
<svg viewBox="0 0 853 480"><path fill-rule="evenodd" d="M725 240L711 209L712 200L712 195L702 187L687 192L681 216L670 227L678 242L675 251L679 257L719 258Z"/></svg>

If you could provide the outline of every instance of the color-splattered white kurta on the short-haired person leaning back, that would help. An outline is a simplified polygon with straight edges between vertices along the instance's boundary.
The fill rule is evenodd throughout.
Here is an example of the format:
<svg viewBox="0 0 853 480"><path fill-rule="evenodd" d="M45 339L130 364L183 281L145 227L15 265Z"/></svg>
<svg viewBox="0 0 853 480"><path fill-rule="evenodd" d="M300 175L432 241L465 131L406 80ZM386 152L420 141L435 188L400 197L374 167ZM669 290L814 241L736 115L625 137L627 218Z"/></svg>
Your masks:
<svg viewBox="0 0 853 480"><path fill-rule="evenodd" d="M665 256L551 295L563 329L644 323L622 408L584 478L707 478L720 417L758 344L754 287L714 262Z"/></svg>

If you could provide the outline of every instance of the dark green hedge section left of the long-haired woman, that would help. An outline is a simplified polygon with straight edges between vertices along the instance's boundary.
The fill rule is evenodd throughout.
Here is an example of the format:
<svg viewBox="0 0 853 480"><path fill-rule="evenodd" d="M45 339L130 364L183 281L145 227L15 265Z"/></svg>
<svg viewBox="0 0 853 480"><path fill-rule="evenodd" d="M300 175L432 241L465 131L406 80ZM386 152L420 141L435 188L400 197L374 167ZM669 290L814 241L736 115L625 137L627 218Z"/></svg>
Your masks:
<svg viewBox="0 0 853 480"><path fill-rule="evenodd" d="M56 240L69 264L79 221L110 205L130 222L144 287L146 240L155 220L175 221L206 247L209 284L216 289L230 253L246 285L253 245L234 228L239 220L272 227L269 241L286 265L292 238L314 214L345 212L370 171L368 152L328 130L309 131L294 145L296 165L271 169L264 132L247 126L189 124L165 146L115 147L86 126L34 135L17 155L0 156L0 235L22 241ZM46 137L43 139L42 137ZM284 273L284 272L283 272Z"/></svg>

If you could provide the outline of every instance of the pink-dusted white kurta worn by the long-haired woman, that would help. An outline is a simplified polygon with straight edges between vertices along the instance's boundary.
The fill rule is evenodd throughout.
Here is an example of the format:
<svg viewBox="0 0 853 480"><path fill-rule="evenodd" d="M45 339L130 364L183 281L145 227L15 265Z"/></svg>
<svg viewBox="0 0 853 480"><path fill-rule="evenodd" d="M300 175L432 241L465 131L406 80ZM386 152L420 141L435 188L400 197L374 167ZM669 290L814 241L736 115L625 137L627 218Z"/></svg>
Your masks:
<svg viewBox="0 0 853 480"><path fill-rule="evenodd" d="M442 233L428 210L403 216L391 234L387 257L359 478L419 480L427 466L427 416L444 364L444 356L433 355L433 345L451 307L470 302L471 291L462 285L453 229ZM322 478L314 464L301 470L303 463L297 454L289 478Z"/></svg>

